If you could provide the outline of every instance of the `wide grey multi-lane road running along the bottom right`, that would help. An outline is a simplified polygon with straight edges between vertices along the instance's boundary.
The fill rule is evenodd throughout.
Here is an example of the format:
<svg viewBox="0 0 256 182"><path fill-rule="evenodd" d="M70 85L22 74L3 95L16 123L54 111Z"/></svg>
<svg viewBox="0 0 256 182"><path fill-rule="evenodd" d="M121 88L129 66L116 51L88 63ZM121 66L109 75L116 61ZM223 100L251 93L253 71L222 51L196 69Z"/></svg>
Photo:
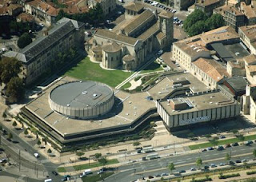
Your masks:
<svg viewBox="0 0 256 182"><path fill-rule="evenodd" d="M237 146L232 148L225 148L222 151L207 151L207 152L198 152L190 153L181 156L170 156L164 157L156 160L147 160L139 163L128 164L122 167L119 167L116 174L110 176L105 181L120 181L127 182L141 178L142 176L156 175L163 172L170 173L166 169L166 166L170 163L174 163L175 170L174 172L179 172L180 170L190 170L190 168L196 168L195 160L199 157L202 159L202 166L210 164L220 164L226 163L225 155L226 153L231 153L231 160L242 160L242 159L252 159L252 151L256 148L256 144L251 146Z"/></svg>

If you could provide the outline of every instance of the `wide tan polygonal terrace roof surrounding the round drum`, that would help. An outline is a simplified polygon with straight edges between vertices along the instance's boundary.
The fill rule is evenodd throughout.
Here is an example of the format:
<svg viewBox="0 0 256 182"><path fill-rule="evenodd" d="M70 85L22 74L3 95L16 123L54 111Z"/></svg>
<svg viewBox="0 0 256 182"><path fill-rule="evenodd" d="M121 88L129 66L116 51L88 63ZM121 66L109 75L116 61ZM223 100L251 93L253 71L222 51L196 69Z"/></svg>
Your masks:
<svg viewBox="0 0 256 182"><path fill-rule="evenodd" d="M62 136L77 133L86 133L106 128L114 128L120 125L130 125L148 109L155 108L154 101L148 101L148 93L125 93L114 90L115 103L110 113L94 120L77 120L63 116L50 109L48 97L55 87L69 81L76 81L71 77L63 77L50 85L48 89L36 99L26 105L26 109L42 119L47 125Z"/></svg>

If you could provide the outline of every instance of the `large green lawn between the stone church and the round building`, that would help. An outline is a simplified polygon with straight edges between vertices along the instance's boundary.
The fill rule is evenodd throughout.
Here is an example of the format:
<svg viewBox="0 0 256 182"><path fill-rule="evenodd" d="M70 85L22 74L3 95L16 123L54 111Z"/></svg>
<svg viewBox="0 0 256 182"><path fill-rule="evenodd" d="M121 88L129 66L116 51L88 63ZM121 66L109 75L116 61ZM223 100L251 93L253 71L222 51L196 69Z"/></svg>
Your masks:
<svg viewBox="0 0 256 182"><path fill-rule="evenodd" d="M127 77L130 77L132 73L133 72L124 72L122 70L102 69L98 63L91 62L89 57L86 57L65 74L79 80L98 81L115 87Z"/></svg>

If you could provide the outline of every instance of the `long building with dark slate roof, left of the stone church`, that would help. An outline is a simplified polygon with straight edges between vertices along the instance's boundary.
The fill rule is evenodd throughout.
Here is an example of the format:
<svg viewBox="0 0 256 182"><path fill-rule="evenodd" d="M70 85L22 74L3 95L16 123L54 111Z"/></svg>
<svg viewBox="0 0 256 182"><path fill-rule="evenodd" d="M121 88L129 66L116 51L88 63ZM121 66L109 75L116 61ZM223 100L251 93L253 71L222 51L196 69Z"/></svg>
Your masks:
<svg viewBox="0 0 256 182"><path fill-rule="evenodd" d="M46 36L36 39L19 52L9 51L3 56L22 61L23 78L26 85L30 85L49 69L59 52L65 53L70 48L84 49L84 23L62 18L46 32Z"/></svg>

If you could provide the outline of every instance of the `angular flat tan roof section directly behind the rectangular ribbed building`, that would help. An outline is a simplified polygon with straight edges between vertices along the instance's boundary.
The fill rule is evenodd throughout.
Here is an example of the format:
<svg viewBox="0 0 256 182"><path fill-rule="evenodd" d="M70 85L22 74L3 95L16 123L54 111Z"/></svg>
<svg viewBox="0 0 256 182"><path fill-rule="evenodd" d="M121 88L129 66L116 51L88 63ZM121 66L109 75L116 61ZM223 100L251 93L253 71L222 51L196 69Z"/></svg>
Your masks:
<svg viewBox="0 0 256 182"><path fill-rule="evenodd" d="M183 87L190 87L192 93L198 93L202 91L209 90L209 88L204 85L197 77L194 77L190 73L175 73L172 75L167 75L159 81L154 87L148 90L148 93L154 98L154 100L163 99L168 96L174 88L172 86L178 81L188 81L189 84L182 85Z"/></svg>

